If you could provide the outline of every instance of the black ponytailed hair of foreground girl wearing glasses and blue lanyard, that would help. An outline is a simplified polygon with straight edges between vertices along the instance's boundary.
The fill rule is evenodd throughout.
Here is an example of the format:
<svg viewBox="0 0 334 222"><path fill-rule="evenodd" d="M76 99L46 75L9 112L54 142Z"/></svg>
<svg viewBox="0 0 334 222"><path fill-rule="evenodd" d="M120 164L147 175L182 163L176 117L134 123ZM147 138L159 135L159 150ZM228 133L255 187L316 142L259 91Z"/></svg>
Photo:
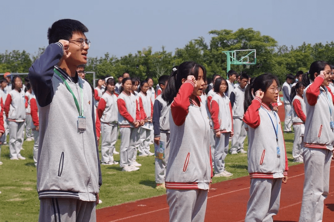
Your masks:
<svg viewBox="0 0 334 222"><path fill-rule="evenodd" d="M245 89L245 100L243 102L243 109L244 112L247 111L248 106L251 105L252 100L254 99L255 92L261 89L263 92L266 92L271 84L273 84L273 81L276 81L277 85L280 85L280 81L278 80L277 76L274 76L270 73L265 73L262 75L259 75L254 79L254 81ZM253 89L253 90L252 90ZM254 92L254 95L252 94Z"/></svg>

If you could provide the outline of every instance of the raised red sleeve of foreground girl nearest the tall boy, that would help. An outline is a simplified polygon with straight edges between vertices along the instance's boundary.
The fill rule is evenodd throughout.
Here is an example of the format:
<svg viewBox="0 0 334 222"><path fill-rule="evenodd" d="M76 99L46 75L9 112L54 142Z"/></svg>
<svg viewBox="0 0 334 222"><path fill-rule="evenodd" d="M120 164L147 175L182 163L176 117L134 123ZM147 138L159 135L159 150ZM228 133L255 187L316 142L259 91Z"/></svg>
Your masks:
<svg viewBox="0 0 334 222"><path fill-rule="evenodd" d="M190 106L189 98L194 91L194 87L195 84L192 81L186 80L170 105L173 121L177 126L181 126L186 120Z"/></svg>

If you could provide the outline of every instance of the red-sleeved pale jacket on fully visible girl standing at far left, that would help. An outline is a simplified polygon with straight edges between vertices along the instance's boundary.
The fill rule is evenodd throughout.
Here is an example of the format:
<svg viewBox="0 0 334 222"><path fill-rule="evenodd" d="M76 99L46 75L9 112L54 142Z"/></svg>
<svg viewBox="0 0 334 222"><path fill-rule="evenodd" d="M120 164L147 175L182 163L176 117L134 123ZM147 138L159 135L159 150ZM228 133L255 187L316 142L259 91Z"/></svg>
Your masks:
<svg viewBox="0 0 334 222"><path fill-rule="evenodd" d="M24 92L16 89L10 91L5 102L5 113L8 121L24 122L25 120L25 97Z"/></svg>

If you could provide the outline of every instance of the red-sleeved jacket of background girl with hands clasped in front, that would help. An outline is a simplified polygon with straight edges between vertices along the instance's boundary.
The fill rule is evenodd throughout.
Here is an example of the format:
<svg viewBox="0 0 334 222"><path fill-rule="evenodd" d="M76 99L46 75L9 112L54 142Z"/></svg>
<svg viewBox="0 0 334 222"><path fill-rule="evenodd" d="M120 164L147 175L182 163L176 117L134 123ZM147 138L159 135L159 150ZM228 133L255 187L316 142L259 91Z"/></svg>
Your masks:
<svg viewBox="0 0 334 222"><path fill-rule="evenodd" d="M127 95L124 91L117 98L118 106L118 124L120 127L134 127L136 121L140 122L140 115L136 96L130 93Z"/></svg>

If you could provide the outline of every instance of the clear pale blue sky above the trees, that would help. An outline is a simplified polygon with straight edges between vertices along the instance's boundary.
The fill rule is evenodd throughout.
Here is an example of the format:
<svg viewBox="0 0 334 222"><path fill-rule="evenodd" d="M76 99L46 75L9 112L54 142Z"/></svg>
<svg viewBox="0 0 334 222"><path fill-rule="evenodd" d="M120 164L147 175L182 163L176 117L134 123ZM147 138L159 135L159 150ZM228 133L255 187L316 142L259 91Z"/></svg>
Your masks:
<svg viewBox="0 0 334 222"><path fill-rule="evenodd" d="M214 29L253 28L279 45L326 43L334 39L333 6L333 0L4 1L0 53L34 55L48 45L47 28L63 18L88 27L90 57L120 57L149 46L159 51L163 45L174 53L200 36L209 43Z"/></svg>

